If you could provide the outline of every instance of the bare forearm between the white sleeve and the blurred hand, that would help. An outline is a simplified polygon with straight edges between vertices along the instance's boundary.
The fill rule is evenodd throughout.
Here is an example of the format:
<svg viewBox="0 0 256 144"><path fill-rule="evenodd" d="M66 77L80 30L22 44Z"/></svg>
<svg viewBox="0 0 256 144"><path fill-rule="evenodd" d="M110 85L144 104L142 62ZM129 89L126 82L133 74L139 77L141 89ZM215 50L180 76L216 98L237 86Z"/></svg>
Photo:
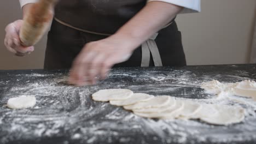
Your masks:
<svg viewBox="0 0 256 144"><path fill-rule="evenodd" d="M113 37L127 39L133 49L167 25L183 8L165 2L149 2Z"/></svg>

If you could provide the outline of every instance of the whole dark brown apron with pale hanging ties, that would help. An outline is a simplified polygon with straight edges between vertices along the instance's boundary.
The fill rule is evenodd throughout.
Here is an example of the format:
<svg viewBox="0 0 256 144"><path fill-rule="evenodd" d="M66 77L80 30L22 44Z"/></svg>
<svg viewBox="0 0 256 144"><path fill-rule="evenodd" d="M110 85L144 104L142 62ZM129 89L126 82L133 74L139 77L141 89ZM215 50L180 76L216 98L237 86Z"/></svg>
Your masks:
<svg viewBox="0 0 256 144"><path fill-rule="evenodd" d="M71 68L74 58L86 43L114 34L145 4L145 0L60 1L48 33L44 68ZM174 20L138 47L128 61L115 67L154 65L186 65L181 33Z"/></svg>

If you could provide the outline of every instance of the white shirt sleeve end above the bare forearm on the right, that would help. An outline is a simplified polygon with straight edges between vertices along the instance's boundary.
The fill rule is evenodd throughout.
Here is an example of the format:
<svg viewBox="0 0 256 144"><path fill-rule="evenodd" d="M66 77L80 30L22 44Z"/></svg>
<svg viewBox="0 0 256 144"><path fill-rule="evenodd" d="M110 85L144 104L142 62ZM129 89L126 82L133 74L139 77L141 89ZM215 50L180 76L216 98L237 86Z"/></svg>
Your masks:
<svg viewBox="0 0 256 144"><path fill-rule="evenodd" d="M148 2L152 1L166 2L184 7L181 14L201 11L201 0L148 0Z"/></svg>

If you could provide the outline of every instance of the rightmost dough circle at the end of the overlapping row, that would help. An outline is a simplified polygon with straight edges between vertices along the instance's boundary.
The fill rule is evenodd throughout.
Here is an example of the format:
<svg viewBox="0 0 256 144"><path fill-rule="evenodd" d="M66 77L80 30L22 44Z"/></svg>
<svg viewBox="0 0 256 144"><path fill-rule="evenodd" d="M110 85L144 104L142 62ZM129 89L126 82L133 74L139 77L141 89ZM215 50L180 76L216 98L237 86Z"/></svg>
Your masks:
<svg viewBox="0 0 256 144"><path fill-rule="evenodd" d="M245 109L241 106L213 105L218 112L214 115L201 115L200 119L204 122L217 125L229 125L240 123L245 119Z"/></svg>

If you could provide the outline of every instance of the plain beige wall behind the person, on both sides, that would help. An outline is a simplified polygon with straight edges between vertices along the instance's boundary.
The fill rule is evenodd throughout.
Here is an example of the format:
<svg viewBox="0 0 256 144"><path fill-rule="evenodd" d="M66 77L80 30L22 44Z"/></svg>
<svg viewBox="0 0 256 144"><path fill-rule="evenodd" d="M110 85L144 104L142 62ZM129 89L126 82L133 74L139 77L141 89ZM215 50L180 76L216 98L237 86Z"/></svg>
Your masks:
<svg viewBox="0 0 256 144"><path fill-rule="evenodd" d="M0 1L0 69L42 69L46 37L26 57L4 47L4 28L21 19L19 2ZM188 65L249 63L256 1L202 0L202 12L178 15Z"/></svg>

